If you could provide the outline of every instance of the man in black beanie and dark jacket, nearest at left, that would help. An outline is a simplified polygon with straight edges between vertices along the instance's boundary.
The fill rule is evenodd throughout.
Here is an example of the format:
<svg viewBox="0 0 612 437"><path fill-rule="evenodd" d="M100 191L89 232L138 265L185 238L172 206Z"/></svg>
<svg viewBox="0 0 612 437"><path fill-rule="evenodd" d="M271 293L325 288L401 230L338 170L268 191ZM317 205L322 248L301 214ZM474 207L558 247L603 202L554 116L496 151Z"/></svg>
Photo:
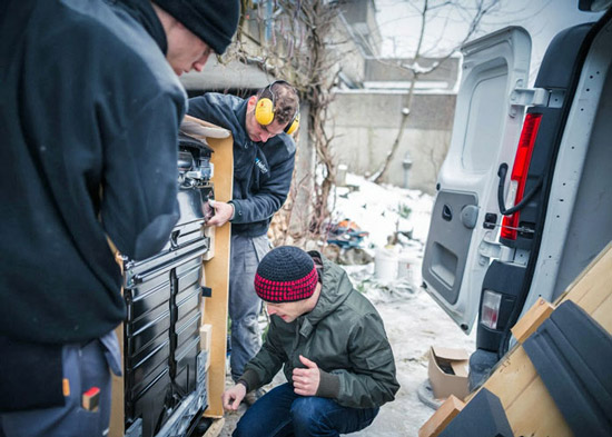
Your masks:
<svg viewBox="0 0 612 437"><path fill-rule="evenodd" d="M186 95L237 0L10 0L0 6L0 436L102 436L124 255L178 218Z"/></svg>

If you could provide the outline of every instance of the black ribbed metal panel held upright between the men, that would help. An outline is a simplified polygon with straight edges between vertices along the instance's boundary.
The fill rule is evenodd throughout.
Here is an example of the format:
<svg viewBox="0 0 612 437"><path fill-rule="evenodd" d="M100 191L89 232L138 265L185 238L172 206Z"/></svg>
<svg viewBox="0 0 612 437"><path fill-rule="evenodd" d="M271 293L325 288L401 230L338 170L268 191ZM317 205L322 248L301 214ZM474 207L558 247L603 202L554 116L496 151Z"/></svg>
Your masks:
<svg viewBox="0 0 612 437"><path fill-rule="evenodd" d="M210 244L204 235L209 198L214 198L211 185L182 177L180 219L168 244L149 259L124 265L126 429L141 419L142 437L172 424L172 415L185 410L181 401L194 399L189 396L195 390L198 396L206 393L204 375L198 385L198 354L203 255ZM201 357L199 366L203 373Z"/></svg>

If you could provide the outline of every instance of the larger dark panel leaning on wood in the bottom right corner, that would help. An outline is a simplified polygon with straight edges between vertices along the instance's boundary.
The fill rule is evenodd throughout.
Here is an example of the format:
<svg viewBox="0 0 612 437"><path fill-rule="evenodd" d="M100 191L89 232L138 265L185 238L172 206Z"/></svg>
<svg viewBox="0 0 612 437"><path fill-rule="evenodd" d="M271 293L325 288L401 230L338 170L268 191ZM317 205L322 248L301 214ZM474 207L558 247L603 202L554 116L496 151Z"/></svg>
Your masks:
<svg viewBox="0 0 612 437"><path fill-rule="evenodd" d="M524 342L576 436L612 436L612 336L571 300Z"/></svg>

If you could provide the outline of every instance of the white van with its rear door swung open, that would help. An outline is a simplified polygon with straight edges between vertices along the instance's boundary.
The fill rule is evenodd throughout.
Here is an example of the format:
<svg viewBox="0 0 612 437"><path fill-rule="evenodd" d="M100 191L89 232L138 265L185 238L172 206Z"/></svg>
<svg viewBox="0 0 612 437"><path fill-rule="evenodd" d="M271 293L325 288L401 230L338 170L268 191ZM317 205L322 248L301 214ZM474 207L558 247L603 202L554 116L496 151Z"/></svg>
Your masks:
<svg viewBox="0 0 612 437"><path fill-rule="evenodd" d="M521 315L540 296L553 301L612 240L610 4L580 1L608 11L552 40L531 89L524 29L463 47L423 287L466 334L477 316L472 388Z"/></svg>

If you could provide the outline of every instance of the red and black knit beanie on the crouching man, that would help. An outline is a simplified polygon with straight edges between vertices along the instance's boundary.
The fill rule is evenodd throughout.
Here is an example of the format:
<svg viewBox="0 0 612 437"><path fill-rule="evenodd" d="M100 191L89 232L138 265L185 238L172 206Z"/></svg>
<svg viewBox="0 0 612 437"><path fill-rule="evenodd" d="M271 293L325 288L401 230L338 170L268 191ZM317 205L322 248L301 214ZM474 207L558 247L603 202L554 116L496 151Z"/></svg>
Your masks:
<svg viewBox="0 0 612 437"><path fill-rule="evenodd" d="M318 275L313 258L293 246L270 250L255 274L255 291L268 302L293 302L315 292Z"/></svg>

